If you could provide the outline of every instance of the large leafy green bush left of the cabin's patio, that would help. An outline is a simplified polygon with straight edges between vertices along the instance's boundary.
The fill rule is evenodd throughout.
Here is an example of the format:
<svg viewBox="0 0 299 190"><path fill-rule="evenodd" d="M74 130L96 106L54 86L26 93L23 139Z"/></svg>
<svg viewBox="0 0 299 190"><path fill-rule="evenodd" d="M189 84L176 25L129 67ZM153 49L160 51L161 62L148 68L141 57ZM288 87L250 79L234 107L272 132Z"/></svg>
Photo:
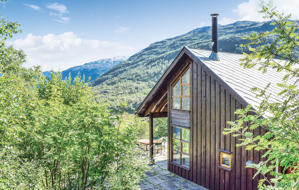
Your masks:
<svg viewBox="0 0 299 190"><path fill-rule="evenodd" d="M30 186L101 189L111 172L112 176L120 177L118 175L124 175L120 170L135 160L136 169L127 171L126 175L135 177L135 183L130 187L136 187L142 172L147 169L147 160L140 158L134 149L134 128L121 133L122 117L113 115L107 105L92 101L90 88L83 81L78 76L71 85L71 78L61 80L61 74L52 74L50 81L45 78L38 81L39 88L35 88L32 96L23 102L25 105L20 113L25 121L16 130L17 139L9 145L18 153L13 161L19 160L21 166L38 168L33 170L39 172L35 178L26 179L34 181L33 184L28 182ZM14 120L19 121L18 118ZM13 120L8 123L12 124ZM2 136L2 142L4 138L8 136ZM11 135L9 138L15 137ZM4 161L11 160L12 155L9 156ZM24 170L30 167L26 166ZM113 170L114 167L117 169ZM8 170L2 179L12 180L8 174L15 172L15 168ZM28 174L32 176L32 172L28 171ZM22 175L18 177L18 184L21 184ZM6 188L18 187L13 181L3 183Z"/></svg>

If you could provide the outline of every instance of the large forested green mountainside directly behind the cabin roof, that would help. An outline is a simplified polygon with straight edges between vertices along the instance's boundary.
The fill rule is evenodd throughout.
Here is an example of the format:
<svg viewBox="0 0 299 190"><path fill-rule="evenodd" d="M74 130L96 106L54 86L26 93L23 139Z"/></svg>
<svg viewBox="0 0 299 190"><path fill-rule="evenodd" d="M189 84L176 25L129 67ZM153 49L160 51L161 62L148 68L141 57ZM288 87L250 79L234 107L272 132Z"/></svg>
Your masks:
<svg viewBox="0 0 299 190"><path fill-rule="evenodd" d="M242 37L249 36L252 32L271 30L274 26L270 23L271 21L238 21L219 25L219 51L249 53L247 48L240 47L240 44L247 42ZM93 91L100 95L98 101L108 101L115 110L122 101L127 101L126 111L133 113L183 46L210 50L211 27L204 26L150 44L128 60L114 66L91 83Z"/></svg>

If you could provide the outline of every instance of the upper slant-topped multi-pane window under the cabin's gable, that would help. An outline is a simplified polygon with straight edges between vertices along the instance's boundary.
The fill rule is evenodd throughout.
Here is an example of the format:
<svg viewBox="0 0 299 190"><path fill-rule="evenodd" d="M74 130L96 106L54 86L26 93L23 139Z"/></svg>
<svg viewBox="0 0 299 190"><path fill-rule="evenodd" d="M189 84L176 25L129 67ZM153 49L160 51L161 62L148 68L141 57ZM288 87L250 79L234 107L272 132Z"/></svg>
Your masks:
<svg viewBox="0 0 299 190"><path fill-rule="evenodd" d="M189 83L182 83L182 76L189 71ZM189 111L190 110L190 67L189 65L183 69L183 71L179 74L179 76L171 83L171 109L177 109L177 110L185 110ZM179 82L179 95L173 95L173 87ZM182 87L183 86L188 86L188 91L189 95L182 95ZM180 108L174 108L173 107L173 97L178 97L179 98L179 107ZM182 109L182 98L188 98L189 99L189 109Z"/></svg>

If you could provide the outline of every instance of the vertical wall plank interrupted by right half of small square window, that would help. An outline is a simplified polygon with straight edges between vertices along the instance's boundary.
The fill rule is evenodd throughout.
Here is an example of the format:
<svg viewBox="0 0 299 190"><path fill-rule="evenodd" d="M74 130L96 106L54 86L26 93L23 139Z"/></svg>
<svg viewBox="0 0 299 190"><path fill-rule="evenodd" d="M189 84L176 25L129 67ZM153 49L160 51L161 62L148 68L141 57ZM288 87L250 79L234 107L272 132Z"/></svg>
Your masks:
<svg viewBox="0 0 299 190"><path fill-rule="evenodd" d="M225 128L229 128L229 124L227 121L230 121L230 94L225 91ZM221 134L224 130L221 131ZM223 135L223 134L222 134ZM225 149L226 151L230 151L230 135L223 135L225 138ZM225 172L225 190L230 190L230 173L226 171Z"/></svg>

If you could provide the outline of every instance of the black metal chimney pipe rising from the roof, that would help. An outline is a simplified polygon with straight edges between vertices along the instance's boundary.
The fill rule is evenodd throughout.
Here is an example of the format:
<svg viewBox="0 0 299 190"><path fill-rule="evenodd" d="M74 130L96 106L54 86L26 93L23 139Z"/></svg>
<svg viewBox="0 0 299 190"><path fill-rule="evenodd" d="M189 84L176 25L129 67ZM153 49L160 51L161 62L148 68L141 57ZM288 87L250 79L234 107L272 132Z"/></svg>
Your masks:
<svg viewBox="0 0 299 190"><path fill-rule="evenodd" d="M212 16L212 53L210 58L219 61L218 57L218 15L219 14L211 14Z"/></svg>

